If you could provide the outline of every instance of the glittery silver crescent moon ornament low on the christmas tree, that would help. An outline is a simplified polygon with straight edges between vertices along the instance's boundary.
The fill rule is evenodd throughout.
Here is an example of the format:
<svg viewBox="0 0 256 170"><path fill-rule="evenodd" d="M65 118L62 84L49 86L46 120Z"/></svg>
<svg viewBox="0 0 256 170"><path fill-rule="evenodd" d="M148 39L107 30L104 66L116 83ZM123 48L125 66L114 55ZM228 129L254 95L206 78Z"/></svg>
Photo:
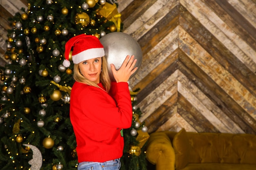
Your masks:
<svg viewBox="0 0 256 170"><path fill-rule="evenodd" d="M42 153L36 146L34 145L29 145L29 144L23 144L24 146L27 146L31 148L33 151L33 156L32 159L28 162L31 167L29 168L30 170L40 170L43 164L43 157Z"/></svg>

